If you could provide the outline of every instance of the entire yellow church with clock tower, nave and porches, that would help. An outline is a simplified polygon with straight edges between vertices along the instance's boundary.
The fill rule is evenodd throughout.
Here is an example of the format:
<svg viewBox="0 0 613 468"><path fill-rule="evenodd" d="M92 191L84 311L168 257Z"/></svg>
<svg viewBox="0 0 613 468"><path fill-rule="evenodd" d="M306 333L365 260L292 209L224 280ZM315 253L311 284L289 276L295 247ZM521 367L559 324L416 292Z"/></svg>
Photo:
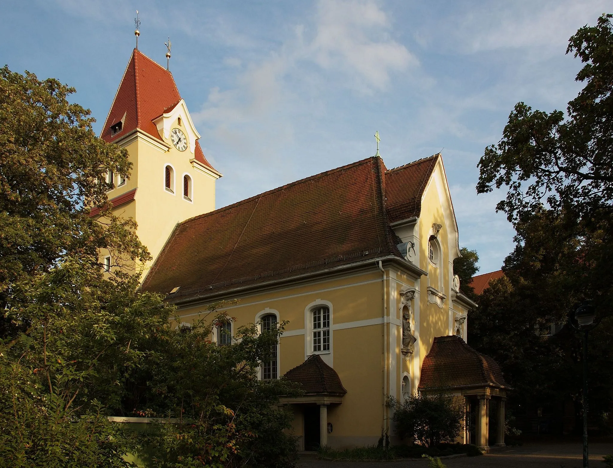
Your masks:
<svg viewBox="0 0 613 468"><path fill-rule="evenodd" d="M282 401L300 449L371 445L382 431L393 439L386 397L441 389L466 402L463 441L487 450L492 432L504 443L508 386L466 343L476 304L453 271L459 232L440 154L389 169L378 154L356 155L215 209L221 174L186 102L172 74L137 49L101 138L133 164L129 180L109 172L109 199L137 221L153 256L143 290L167 294L186 324L212 302L239 299L225 309L237 320L215 331L219 345L243 324L289 322L259 378L302 384L302 397Z"/></svg>

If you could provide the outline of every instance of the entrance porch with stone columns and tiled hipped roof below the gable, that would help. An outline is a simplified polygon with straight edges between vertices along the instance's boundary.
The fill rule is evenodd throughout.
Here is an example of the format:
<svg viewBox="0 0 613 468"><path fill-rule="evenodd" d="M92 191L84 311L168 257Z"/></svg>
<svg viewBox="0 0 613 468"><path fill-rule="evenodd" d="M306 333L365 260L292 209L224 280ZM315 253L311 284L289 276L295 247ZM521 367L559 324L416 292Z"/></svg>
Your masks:
<svg viewBox="0 0 613 468"><path fill-rule="evenodd" d="M504 404L506 391L500 366L489 356L474 350L459 336L436 337L422 363L419 391L445 392L465 399L466 420L471 406L476 405L475 439L465 424L465 442L474 443L482 451L489 451L490 401L497 406L495 445L504 445Z"/></svg>

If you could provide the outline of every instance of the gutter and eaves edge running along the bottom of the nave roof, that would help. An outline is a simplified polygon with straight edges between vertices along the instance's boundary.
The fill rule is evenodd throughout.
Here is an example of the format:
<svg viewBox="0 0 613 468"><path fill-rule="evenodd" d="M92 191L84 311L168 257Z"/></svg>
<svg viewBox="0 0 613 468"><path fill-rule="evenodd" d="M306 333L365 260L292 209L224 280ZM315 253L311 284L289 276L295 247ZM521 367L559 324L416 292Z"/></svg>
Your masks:
<svg viewBox="0 0 613 468"><path fill-rule="evenodd" d="M169 295L169 296L166 296L166 299L178 306L187 305L192 302L195 302L195 303L208 302L216 298L219 299L223 296L235 296L237 293L246 293L247 291L250 291L250 290L257 290L260 288L270 288L272 286L276 286L282 283L308 280L313 277L321 276L322 274L336 274L336 273L345 272L347 270L357 269L360 267L368 267L368 266L371 267L373 264L373 261L375 261L375 263L378 263L379 261L381 261L382 263L383 262L395 263L399 267L404 268L408 270L409 272L413 273L417 278L428 275L427 272L415 266L413 263L409 262L408 260L405 260L403 258L398 258L395 255L387 255L387 256L379 257L375 259L368 259L368 260L364 260L364 261L360 261L356 263L350 263L348 265L341 265L338 267L329 268L327 270L319 270L316 272L305 273L302 275L296 275L296 276L292 276L289 278L281 278L279 280L272 280L272 281L268 281L265 283L257 283L256 285L242 286L240 288L234 288L231 290L219 291L219 293L200 294L199 296L187 297L186 299L183 299L183 300L179 299L177 301L173 301L172 297L169 297L170 296Z"/></svg>

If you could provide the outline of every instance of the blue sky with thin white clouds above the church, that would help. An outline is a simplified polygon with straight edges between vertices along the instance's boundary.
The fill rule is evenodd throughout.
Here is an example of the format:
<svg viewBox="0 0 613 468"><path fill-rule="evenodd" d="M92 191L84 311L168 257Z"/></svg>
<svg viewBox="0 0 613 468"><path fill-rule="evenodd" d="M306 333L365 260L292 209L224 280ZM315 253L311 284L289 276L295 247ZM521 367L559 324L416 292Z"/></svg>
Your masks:
<svg viewBox="0 0 613 468"><path fill-rule="evenodd" d="M481 272L514 231L477 195L476 164L512 107L565 109L578 28L613 1L0 0L0 63L77 88L100 130L134 47L165 64L213 166L217 207L375 153L388 168L442 152Z"/></svg>

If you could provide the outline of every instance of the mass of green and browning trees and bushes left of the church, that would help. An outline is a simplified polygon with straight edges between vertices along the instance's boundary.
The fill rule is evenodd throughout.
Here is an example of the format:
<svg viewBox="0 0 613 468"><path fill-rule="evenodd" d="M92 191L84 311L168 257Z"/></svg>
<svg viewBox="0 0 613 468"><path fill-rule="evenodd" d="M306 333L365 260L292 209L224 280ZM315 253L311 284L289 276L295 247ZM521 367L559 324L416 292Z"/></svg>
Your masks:
<svg viewBox="0 0 613 468"><path fill-rule="evenodd" d="M150 256L100 182L129 177L128 154L70 93L0 70L0 467L126 467L135 451L155 466L291 466L276 403L294 389L256 378L283 324L218 347L204 319L179 329L175 307L139 291ZM118 259L110 274L101 249ZM151 412L178 423L139 437L107 420Z"/></svg>

